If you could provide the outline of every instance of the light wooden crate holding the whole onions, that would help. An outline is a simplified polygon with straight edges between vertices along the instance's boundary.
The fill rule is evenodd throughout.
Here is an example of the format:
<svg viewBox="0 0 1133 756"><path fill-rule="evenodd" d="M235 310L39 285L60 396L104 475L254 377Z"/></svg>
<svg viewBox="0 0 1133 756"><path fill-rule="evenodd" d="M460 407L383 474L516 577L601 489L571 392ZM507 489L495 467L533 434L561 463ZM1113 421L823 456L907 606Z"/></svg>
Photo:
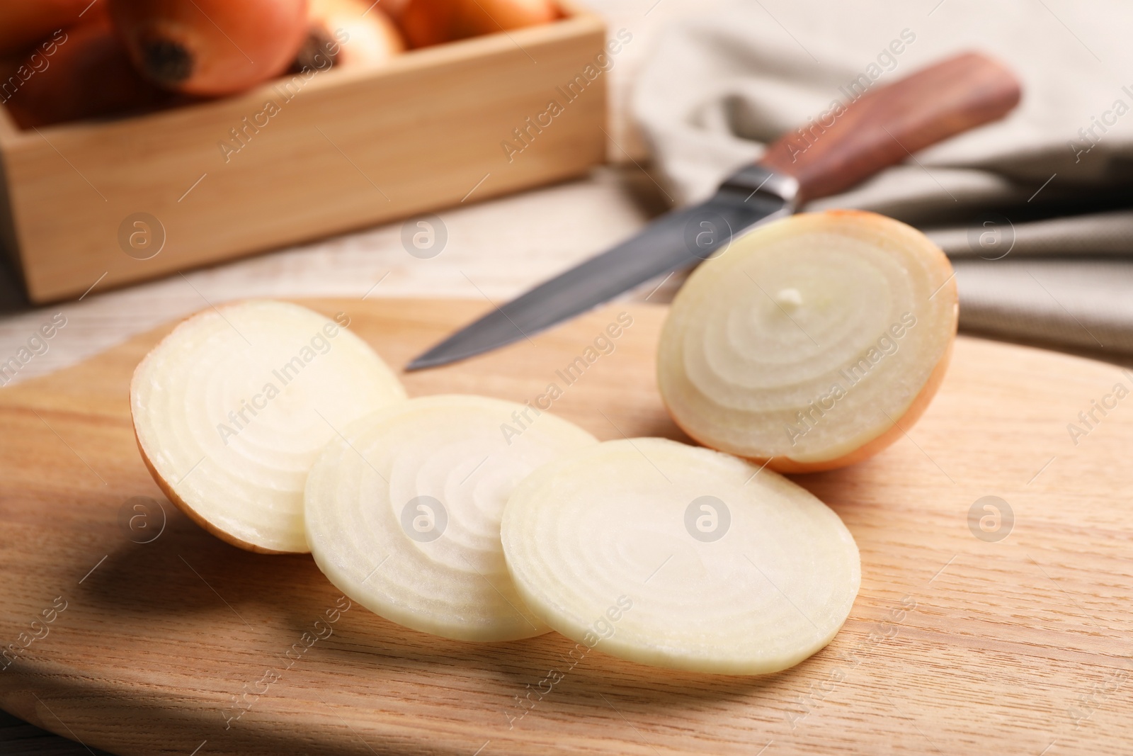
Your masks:
<svg viewBox="0 0 1133 756"><path fill-rule="evenodd" d="M571 7L134 118L20 130L0 108L0 240L43 303L577 176L605 155L605 45Z"/></svg>

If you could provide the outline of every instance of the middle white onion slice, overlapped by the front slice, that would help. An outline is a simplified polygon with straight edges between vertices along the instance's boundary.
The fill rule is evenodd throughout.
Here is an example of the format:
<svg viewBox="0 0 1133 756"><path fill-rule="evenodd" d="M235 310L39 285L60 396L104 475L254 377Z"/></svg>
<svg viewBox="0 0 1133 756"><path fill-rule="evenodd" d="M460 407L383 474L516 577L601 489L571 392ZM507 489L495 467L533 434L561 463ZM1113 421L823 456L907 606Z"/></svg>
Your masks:
<svg viewBox="0 0 1133 756"><path fill-rule="evenodd" d="M346 595L458 640L547 631L516 595L504 504L537 467L594 445L580 427L497 399L410 399L355 423L310 470L307 538Z"/></svg>

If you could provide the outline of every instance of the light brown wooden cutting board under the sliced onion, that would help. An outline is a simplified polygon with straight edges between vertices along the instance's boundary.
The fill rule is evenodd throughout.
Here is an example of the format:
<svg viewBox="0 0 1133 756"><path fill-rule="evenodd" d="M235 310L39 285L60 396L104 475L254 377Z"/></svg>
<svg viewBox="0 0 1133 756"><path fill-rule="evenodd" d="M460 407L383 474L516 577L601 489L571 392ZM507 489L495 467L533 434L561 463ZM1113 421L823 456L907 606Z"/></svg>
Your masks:
<svg viewBox="0 0 1133 756"><path fill-rule="evenodd" d="M394 365L485 308L305 304L349 313ZM614 351L566 385L556 371L622 311L633 324ZM653 375L664 314L613 306L406 384L523 401L557 383L553 411L599 438L682 438ZM572 660L555 634L434 638L341 611L308 557L207 535L162 499L130 431L130 373L168 330L0 391L0 645L18 649L0 671L0 706L45 729L184 756L1057 756L1133 742L1133 398L1106 399L1133 376L1117 367L960 339L906 438L795 478L853 532L861 593L827 648L744 679L598 649ZM1077 414L1091 400L1116 406L1085 428ZM1088 431L1076 444L1068 423ZM164 504L163 529L157 510L148 530L126 525L134 496ZM1006 501L1013 523L983 496Z"/></svg>

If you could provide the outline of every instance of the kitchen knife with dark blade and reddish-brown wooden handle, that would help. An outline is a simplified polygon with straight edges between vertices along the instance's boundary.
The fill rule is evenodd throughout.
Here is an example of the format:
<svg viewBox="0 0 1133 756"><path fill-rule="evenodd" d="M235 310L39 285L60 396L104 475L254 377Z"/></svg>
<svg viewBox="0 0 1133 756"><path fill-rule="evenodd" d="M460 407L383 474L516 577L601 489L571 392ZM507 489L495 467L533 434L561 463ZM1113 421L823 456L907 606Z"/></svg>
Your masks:
<svg viewBox="0 0 1133 756"><path fill-rule="evenodd" d="M1006 116L1020 85L976 52L949 58L888 86L864 88L772 144L707 202L670 212L636 236L497 306L406 366L436 367L529 338L636 286L689 267L731 240L803 203L837 194L913 153ZM859 87L859 88L853 88Z"/></svg>

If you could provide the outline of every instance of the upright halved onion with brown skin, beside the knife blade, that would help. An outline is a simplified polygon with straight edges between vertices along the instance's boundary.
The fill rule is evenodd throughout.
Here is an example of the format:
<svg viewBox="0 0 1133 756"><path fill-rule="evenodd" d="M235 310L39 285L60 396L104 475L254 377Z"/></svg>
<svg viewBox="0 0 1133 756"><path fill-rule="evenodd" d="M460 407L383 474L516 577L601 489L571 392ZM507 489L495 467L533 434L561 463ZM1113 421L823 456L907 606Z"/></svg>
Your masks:
<svg viewBox="0 0 1133 756"><path fill-rule="evenodd" d="M841 467L908 430L956 333L952 266L925 235L854 211L736 239L678 294L657 379L700 443L781 472Z"/></svg>

